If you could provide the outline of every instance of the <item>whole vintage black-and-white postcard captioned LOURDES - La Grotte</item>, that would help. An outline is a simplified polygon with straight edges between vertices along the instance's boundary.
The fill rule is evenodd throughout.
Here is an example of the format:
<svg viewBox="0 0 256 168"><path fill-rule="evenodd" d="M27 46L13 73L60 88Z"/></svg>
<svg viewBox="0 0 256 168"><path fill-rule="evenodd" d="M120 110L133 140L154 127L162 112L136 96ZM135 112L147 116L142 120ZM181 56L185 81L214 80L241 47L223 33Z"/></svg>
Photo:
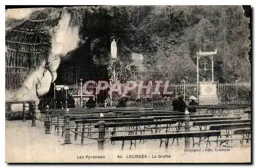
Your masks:
<svg viewBox="0 0 256 168"><path fill-rule="evenodd" d="M6 9L6 162L251 162L250 6Z"/></svg>

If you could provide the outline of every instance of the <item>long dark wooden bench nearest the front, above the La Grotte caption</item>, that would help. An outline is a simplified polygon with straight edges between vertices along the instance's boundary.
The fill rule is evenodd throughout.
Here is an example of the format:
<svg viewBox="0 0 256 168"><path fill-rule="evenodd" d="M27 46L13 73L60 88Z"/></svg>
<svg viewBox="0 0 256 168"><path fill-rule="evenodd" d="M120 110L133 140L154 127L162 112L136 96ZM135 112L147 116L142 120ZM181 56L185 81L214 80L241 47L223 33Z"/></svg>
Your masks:
<svg viewBox="0 0 256 168"><path fill-rule="evenodd" d="M168 148L168 142L169 138L179 138L179 137L199 137L199 144L201 142L202 137L209 137L209 136L219 136L221 134L220 131L191 131L191 132L175 132L175 133L165 133L165 134L143 134L143 135L127 135L127 136L112 136L110 138L111 141L122 141L122 150L124 147L124 141L131 141L130 149L132 148L132 145L134 144L136 148L136 140L146 140L146 139L160 139L160 147L162 143L164 142L165 148ZM165 141L162 141L162 139L165 139ZM132 141L135 141L133 143ZM193 142L193 147L195 146L195 143Z"/></svg>

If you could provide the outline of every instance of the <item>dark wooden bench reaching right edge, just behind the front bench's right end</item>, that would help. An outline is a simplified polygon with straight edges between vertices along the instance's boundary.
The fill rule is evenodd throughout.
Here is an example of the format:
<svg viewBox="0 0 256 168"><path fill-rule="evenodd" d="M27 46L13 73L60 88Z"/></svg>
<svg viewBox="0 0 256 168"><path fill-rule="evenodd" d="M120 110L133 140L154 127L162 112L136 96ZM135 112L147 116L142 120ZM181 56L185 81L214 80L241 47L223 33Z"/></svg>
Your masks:
<svg viewBox="0 0 256 168"><path fill-rule="evenodd" d="M232 131L233 129L244 129L244 128L251 128L251 123L236 123L236 124L216 124L216 125L210 125L209 130L226 130L226 133L223 135L220 135L217 137L216 140L209 141L210 142L216 142L216 147L221 147L223 143L226 143L228 145L229 141L240 141L241 138L232 138L232 135L230 133L230 130ZM225 138L222 138L221 136L226 136ZM218 145L218 143L220 144Z"/></svg>

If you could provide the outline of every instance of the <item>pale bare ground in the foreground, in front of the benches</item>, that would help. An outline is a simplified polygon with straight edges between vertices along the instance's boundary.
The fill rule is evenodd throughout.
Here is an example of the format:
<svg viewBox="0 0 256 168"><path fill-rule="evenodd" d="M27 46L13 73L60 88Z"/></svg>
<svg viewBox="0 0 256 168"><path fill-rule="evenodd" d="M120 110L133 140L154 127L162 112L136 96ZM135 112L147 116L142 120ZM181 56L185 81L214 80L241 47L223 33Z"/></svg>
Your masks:
<svg viewBox="0 0 256 168"><path fill-rule="evenodd" d="M164 146L159 148L159 140L151 140L144 144L137 142L137 148L131 150L127 142L124 151L121 142L114 146L106 142L104 151L98 151L94 139L86 138L84 145L80 145L80 137L75 141L71 133L72 144L63 145L64 138L57 136L53 128L51 134L45 134L42 122L38 121L36 127L31 127L31 122L6 121L6 162L249 162L251 157L250 148L218 152L206 152L202 148L201 152L184 152L184 139L179 140L179 146L169 143L167 150ZM104 158L97 159L100 156Z"/></svg>

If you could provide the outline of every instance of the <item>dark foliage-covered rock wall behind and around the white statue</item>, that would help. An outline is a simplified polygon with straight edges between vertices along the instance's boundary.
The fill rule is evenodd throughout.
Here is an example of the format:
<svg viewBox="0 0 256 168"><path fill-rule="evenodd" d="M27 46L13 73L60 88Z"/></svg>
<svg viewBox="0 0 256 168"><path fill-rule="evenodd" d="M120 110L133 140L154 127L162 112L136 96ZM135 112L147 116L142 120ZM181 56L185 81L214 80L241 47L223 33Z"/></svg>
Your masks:
<svg viewBox="0 0 256 168"><path fill-rule="evenodd" d="M196 52L217 49L215 80L250 80L246 42L249 21L242 6L97 6L68 10L81 25L84 45L76 52L81 55L81 65L93 60L98 68L105 68L110 61L110 38L116 36L118 58L129 64L132 52L143 54L143 66L151 74L148 78L194 82Z"/></svg>

